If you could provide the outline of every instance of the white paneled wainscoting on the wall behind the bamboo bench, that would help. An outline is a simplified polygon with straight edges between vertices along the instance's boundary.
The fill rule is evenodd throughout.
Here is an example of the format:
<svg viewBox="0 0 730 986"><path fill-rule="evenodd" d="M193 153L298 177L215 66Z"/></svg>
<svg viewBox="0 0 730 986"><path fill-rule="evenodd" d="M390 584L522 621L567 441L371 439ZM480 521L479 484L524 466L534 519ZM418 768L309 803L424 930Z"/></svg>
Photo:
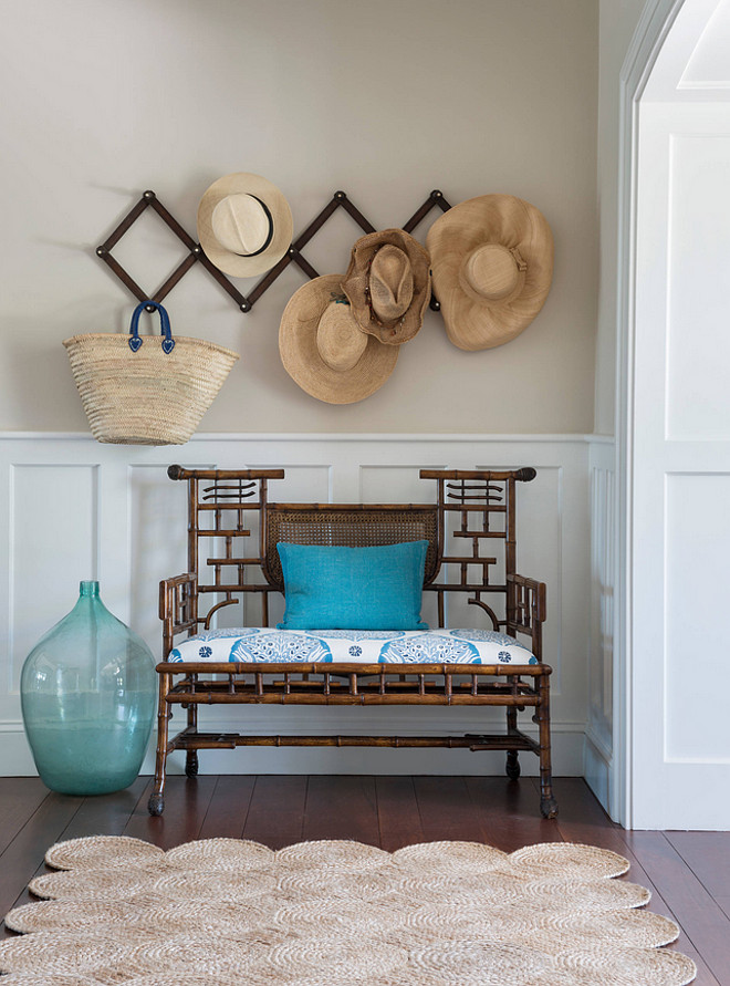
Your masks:
<svg viewBox="0 0 730 986"><path fill-rule="evenodd" d="M523 574L548 583L545 660L554 667L554 769L561 775L583 774L592 574L598 580L599 592L606 593L611 584L605 552L593 559L591 572L588 449L588 440L581 435L199 435L180 448L104 446L77 435L1 436L0 511L8 521L0 526L0 625L6 634L0 651L3 771L34 772L20 715L20 670L39 636L72 608L81 580L98 579L108 609L140 633L156 656L159 654L158 582L186 567L186 485L173 482L166 475L170 463L180 463L207 468L282 466L286 477L271 482L272 499L322 502L430 502L435 484L418 478L420 468L534 466L538 478L519 488L518 562ZM602 481L605 488L597 495L594 490L593 509L607 516L607 471ZM606 596L606 612L607 606ZM452 625L463 620L473 623L474 609L459 612L452 605ZM596 650L594 640L591 665L598 683L605 681L602 666L608 646L607 637L602 641ZM595 676L592 682L595 684ZM609 696L602 687L598 684L596 692L592 685L591 692L592 749L596 737L609 735ZM201 724L209 718L206 712ZM233 708L215 722L217 728L234 729L246 717L247 728L260 733L397 729L460 734L483 731L489 722L501 722L496 715L494 709L262 706ZM528 714L524 720L530 730ZM608 746L599 781L603 789L609 756ZM171 769L181 769L181 760L173 759ZM536 758L525 755L522 759L525 772L535 772ZM148 756L145 772L152 770L152 762ZM501 774L503 755L251 748L206 753L201 770Z"/></svg>

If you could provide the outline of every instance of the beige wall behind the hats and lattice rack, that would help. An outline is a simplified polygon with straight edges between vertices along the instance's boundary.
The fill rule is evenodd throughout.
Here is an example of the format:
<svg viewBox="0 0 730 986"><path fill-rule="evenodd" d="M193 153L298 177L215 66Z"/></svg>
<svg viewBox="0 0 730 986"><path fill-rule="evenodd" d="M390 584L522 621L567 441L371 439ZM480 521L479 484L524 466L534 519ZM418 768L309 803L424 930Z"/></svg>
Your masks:
<svg viewBox="0 0 730 986"><path fill-rule="evenodd" d="M620 3L629 21L637 6ZM194 232L207 186L251 170L281 187L299 229L337 188L379 227L436 187L452 203L521 196L553 228L555 278L512 343L461 352L429 313L377 394L333 407L279 361L302 274L246 315L195 269L168 298L174 330L241 353L202 430L592 429L598 0L32 0L2 13L0 428L86 429L61 340L126 331L132 299L93 248L139 194ZM138 226L116 252L156 287L181 252L155 216ZM345 269L358 235L344 214L331 227L306 251L323 273Z"/></svg>

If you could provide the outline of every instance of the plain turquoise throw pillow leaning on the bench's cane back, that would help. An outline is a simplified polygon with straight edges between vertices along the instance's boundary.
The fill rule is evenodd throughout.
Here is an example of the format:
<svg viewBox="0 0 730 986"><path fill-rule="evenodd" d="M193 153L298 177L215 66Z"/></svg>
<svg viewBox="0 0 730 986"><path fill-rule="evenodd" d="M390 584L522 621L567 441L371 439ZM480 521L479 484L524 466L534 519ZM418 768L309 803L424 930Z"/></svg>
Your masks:
<svg viewBox="0 0 730 986"><path fill-rule="evenodd" d="M420 619L427 548L280 542L286 612L277 629L428 630Z"/></svg>

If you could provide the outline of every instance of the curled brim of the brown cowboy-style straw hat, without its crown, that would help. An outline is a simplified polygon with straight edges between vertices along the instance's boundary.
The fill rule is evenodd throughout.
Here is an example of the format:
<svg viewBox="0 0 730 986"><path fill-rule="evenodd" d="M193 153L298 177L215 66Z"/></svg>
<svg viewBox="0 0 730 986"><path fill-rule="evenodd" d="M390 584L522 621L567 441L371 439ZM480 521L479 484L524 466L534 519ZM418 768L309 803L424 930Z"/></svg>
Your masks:
<svg viewBox="0 0 730 986"><path fill-rule="evenodd" d="M369 283L369 267L376 251L392 243L406 253L414 278L414 297L401 320L394 329L378 325L371 319L371 308L365 293ZM350 267L343 280L343 291L353 308L357 324L384 345L401 345L408 342L424 324L426 307L431 298L430 258L418 240L403 229L382 229L361 237L352 249Z"/></svg>

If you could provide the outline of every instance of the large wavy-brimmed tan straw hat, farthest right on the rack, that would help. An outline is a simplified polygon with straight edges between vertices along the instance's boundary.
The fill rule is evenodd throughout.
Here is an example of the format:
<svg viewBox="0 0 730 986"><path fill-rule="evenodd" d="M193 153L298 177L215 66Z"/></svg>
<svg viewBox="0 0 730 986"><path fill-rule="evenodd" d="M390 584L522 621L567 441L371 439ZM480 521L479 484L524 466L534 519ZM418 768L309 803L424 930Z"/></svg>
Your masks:
<svg viewBox="0 0 730 986"><path fill-rule="evenodd" d="M542 308L553 277L553 237L540 209L513 195L455 206L428 230L434 291L462 350L510 342Z"/></svg>

